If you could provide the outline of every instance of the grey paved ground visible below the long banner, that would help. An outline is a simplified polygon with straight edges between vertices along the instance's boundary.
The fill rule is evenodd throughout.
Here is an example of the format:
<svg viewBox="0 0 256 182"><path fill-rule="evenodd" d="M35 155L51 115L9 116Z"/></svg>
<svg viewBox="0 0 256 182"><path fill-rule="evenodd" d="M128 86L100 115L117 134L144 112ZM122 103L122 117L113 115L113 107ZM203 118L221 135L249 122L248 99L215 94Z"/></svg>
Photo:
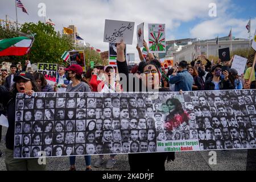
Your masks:
<svg viewBox="0 0 256 182"><path fill-rule="evenodd" d="M3 127L3 137L0 144L0 149L4 152L4 136L6 128ZM245 170L247 150L233 150L233 151L217 151L217 164L210 165L209 152L176 152L175 161L166 164L166 169L169 171L220 171L220 170ZM92 156L92 163L96 160L97 156ZM129 171L129 163L127 155L117 155L117 163L112 169L94 168L93 170L101 171ZM64 158L49 158L47 159L47 169L49 171L67 171L69 169L69 159ZM76 168L78 171L84 170L84 158L79 156L76 158ZM6 170L5 167L5 154L0 158L0 171Z"/></svg>

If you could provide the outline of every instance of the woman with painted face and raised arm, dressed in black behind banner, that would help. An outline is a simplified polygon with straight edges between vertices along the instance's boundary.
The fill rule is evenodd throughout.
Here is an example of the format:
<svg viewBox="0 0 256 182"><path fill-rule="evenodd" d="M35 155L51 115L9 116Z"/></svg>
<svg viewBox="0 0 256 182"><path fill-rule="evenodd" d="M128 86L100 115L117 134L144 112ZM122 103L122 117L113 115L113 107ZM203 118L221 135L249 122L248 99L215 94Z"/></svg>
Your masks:
<svg viewBox="0 0 256 182"><path fill-rule="evenodd" d="M127 62L125 60L125 47L126 45L121 41L120 44L117 44L117 68L118 72L125 74L127 80L127 86L129 87L129 69ZM143 74L140 75L142 82L142 90L147 92L170 92L169 88L160 88L160 62L159 60L151 60L144 62L142 61L139 64L139 71ZM133 83L133 80L130 80ZM139 85L135 87L140 88ZM140 90L140 91L142 91ZM134 92L134 90L124 90L126 92ZM174 160L174 152L162 152L162 153L148 153L148 154L129 154L129 164L131 171L148 171L148 170L157 170L165 171L165 162L170 162ZM150 159L150 160L148 160Z"/></svg>

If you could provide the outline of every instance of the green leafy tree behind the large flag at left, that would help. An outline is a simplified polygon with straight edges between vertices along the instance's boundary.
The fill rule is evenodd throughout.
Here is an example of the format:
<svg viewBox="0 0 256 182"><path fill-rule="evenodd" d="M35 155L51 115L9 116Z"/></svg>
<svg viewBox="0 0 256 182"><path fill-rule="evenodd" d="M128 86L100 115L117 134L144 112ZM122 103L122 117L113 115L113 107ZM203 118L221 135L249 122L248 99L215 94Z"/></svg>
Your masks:
<svg viewBox="0 0 256 182"><path fill-rule="evenodd" d="M18 36L17 31L26 34L36 34L30 52L25 56L5 56L0 57L0 61L10 61L17 64L18 61L30 60L31 63L63 63L61 55L64 51L73 49L72 41L67 35L56 32L50 24L42 22L24 23L20 28L0 27L0 38L7 39Z"/></svg>

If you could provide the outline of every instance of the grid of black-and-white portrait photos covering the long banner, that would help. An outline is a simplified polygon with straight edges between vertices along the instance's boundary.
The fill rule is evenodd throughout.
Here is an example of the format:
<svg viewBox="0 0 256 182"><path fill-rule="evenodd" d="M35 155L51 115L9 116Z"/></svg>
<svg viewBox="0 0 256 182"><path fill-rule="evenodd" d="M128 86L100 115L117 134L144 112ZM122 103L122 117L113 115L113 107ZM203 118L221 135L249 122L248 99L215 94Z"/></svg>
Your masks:
<svg viewBox="0 0 256 182"><path fill-rule="evenodd" d="M15 158L255 148L256 90L162 93L18 93Z"/></svg>

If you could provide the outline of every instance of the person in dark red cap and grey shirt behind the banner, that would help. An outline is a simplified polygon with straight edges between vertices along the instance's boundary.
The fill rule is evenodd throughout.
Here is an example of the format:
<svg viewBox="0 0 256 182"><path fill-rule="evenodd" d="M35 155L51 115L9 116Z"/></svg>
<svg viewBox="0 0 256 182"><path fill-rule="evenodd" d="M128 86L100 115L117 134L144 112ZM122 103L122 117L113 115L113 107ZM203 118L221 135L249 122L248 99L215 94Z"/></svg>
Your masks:
<svg viewBox="0 0 256 182"><path fill-rule="evenodd" d="M72 64L65 71L68 72L67 79L72 81L67 86L67 92L90 92L90 86L81 81L83 70L80 65Z"/></svg>

